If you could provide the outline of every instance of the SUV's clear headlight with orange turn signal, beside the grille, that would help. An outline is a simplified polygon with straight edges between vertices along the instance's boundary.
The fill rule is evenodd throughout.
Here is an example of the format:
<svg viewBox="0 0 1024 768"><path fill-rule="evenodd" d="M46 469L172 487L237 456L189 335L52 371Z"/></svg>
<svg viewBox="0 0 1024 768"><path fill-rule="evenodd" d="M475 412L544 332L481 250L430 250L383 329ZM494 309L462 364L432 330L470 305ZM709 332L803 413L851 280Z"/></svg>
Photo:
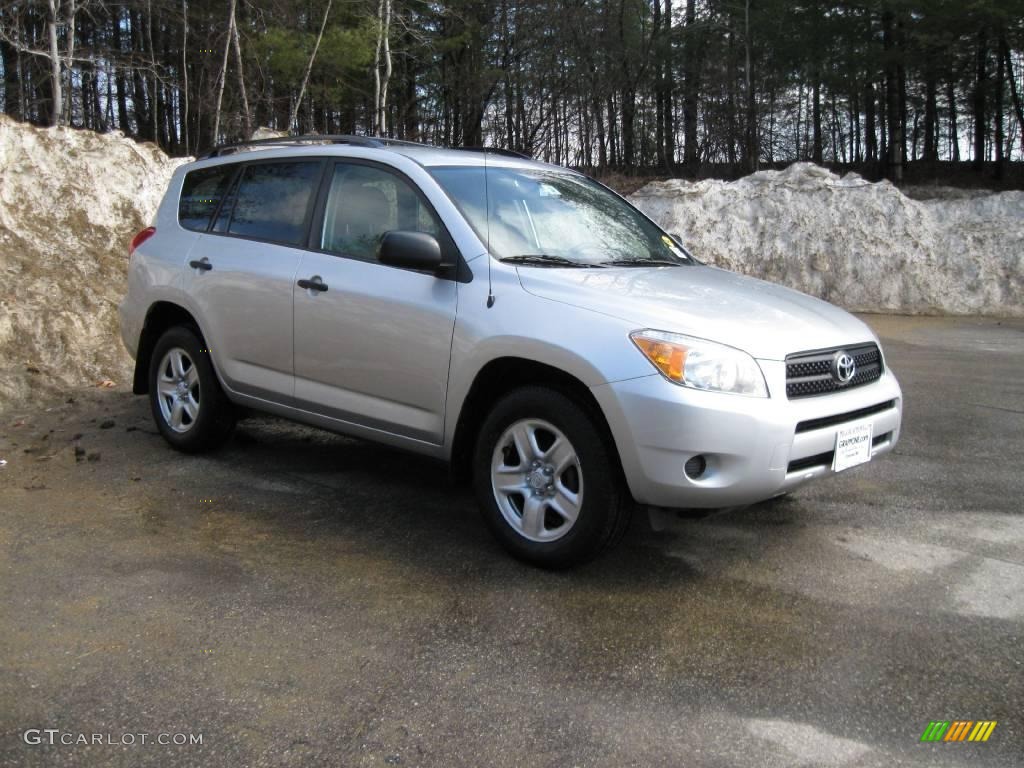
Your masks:
<svg viewBox="0 0 1024 768"><path fill-rule="evenodd" d="M739 349L666 331L634 331L630 338L671 382L714 392L768 396L761 368Z"/></svg>

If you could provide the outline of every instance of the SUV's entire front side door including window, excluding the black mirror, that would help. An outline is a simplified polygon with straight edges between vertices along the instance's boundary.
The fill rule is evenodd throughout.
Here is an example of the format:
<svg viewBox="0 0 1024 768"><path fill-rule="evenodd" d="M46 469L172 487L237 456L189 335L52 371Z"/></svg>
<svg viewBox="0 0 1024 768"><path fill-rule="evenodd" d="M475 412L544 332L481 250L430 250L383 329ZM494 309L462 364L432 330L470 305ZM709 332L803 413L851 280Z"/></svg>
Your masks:
<svg viewBox="0 0 1024 768"><path fill-rule="evenodd" d="M440 444L457 284L385 266L388 231L427 232L454 249L416 186L387 168L334 164L299 268L327 291L295 288L295 397L334 419Z"/></svg>

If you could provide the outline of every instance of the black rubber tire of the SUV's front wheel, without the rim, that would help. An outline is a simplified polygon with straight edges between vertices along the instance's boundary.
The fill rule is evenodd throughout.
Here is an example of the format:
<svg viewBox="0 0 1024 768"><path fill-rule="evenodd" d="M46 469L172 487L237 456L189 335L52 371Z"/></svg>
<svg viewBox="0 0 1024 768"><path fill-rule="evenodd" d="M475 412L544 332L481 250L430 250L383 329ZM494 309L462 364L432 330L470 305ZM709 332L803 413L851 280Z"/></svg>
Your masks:
<svg viewBox="0 0 1024 768"><path fill-rule="evenodd" d="M567 568L593 559L626 532L633 500L626 488L610 435L599 424L599 418L560 391L528 386L504 396L484 419L473 456L473 486L484 521L513 556L543 567ZM502 511L499 501L502 495L495 490L492 480L492 463L498 459L499 442L506 442L503 440L506 431L523 420L541 420L557 428L578 457L578 470L572 471L582 475L579 513L567 532L554 541L535 541L514 527L506 519L509 512ZM520 461L517 456L514 458L516 465ZM507 464L507 460L502 463ZM550 510L544 513L550 514ZM564 523L557 517L555 520Z"/></svg>

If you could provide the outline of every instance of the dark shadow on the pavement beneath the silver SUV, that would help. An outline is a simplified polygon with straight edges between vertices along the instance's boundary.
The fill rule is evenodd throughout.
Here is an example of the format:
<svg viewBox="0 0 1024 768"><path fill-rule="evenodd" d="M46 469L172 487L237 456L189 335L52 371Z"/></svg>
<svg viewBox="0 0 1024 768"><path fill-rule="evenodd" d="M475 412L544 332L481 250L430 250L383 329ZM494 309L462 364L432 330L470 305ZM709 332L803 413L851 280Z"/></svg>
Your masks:
<svg viewBox="0 0 1024 768"><path fill-rule="evenodd" d="M678 586L694 575L666 554L674 535L653 530L643 508L622 543L591 563L570 571L521 563L494 540L472 488L457 483L443 462L273 417L244 420L220 451L202 461L233 476L240 495L258 495L263 514L282 526L301 528L314 520L317 536L356 536L377 556L431 570L530 574L537 585L560 583L567 573L584 585L622 578L637 586L665 585L669 577ZM297 496L302 503L296 504Z"/></svg>

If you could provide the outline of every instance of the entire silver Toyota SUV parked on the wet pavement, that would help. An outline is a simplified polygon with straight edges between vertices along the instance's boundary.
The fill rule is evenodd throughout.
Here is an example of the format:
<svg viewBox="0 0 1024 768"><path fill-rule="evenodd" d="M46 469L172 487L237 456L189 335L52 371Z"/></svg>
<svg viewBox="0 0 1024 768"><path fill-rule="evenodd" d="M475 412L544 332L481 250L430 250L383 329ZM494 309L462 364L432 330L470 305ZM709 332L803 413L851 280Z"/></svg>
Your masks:
<svg viewBox="0 0 1024 768"><path fill-rule="evenodd" d="M635 504L758 502L899 436L863 323L511 153L223 147L130 251L121 332L171 445L217 445L241 407L442 459L543 565L608 547Z"/></svg>

